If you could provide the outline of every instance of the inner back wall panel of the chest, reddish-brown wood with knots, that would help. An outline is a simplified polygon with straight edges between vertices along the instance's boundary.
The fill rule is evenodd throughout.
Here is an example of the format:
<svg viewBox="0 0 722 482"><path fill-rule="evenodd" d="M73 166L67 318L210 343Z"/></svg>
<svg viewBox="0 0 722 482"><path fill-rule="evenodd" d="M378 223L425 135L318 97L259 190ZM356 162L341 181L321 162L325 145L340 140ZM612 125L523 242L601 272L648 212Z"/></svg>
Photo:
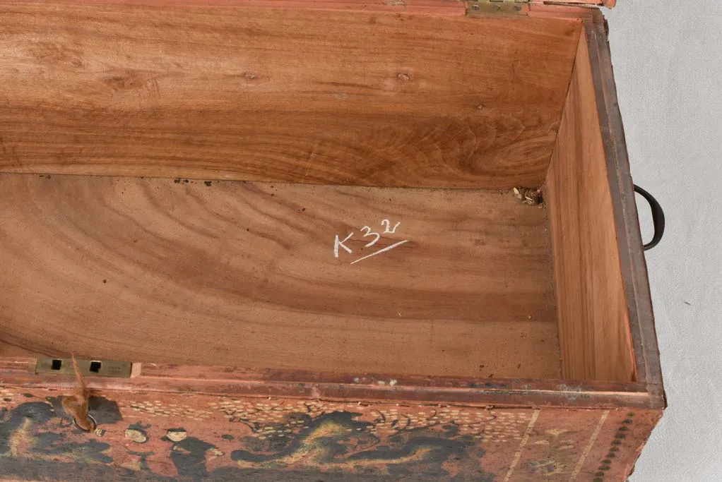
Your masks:
<svg viewBox="0 0 722 482"><path fill-rule="evenodd" d="M192 3L0 1L0 170L544 181L578 20Z"/></svg>

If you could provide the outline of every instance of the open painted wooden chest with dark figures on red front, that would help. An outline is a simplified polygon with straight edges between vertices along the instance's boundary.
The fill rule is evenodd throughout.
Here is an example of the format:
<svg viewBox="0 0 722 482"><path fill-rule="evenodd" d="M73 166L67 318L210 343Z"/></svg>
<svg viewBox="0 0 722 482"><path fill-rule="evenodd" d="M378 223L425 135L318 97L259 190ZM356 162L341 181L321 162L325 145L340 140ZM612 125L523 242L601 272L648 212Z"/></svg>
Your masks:
<svg viewBox="0 0 722 482"><path fill-rule="evenodd" d="M554 3L0 0L0 474L624 480L643 241Z"/></svg>

